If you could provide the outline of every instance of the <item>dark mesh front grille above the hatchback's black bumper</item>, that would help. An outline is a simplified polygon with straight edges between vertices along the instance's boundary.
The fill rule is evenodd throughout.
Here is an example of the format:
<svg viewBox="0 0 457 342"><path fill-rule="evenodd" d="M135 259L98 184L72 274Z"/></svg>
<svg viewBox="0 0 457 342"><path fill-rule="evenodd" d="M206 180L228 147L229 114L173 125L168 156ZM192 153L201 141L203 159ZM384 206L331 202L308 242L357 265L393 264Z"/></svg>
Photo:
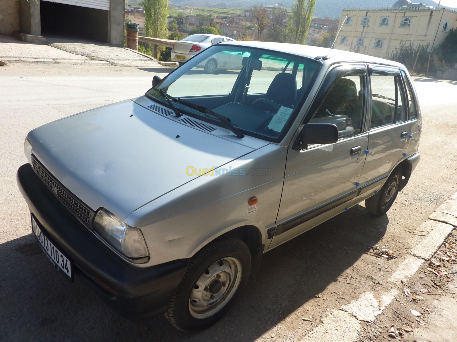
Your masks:
<svg viewBox="0 0 457 342"><path fill-rule="evenodd" d="M80 201L80 199L74 196L71 192L65 189L64 186L60 185L59 182L51 176L46 168L41 165L39 161L32 156L32 166L38 177L46 184L54 195L64 203L64 205L70 209L71 212L76 215L86 226L89 226L91 210Z"/></svg>

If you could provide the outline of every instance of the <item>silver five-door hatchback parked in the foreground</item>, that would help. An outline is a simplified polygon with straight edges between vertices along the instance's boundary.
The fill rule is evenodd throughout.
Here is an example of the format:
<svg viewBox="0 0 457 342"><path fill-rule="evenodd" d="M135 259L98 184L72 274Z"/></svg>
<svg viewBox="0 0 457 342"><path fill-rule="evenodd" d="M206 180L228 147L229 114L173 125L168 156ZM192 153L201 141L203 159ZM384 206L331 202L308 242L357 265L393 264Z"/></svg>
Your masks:
<svg viewBox="0 0 457 342"><path fill-rule="evenodd" d="M241 67L205 73L218 55ZM385 214L419 161L396 62L223 42L152 83L32 130L17 172L55 267L125 316L213 324L265 252L361 201Z"/></svg>

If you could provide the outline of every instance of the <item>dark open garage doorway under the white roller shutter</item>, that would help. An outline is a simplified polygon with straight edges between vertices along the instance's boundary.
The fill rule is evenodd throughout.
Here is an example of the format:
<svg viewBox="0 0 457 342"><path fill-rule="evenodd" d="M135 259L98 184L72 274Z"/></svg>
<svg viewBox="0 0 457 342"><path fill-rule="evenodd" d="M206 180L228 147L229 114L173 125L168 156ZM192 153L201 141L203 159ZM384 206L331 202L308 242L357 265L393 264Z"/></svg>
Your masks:
<svg viewBox="0 0 457 342"><path fill-rule="evenodd" d="M109 42L109 10L40 1L41 35Z"/></svg>

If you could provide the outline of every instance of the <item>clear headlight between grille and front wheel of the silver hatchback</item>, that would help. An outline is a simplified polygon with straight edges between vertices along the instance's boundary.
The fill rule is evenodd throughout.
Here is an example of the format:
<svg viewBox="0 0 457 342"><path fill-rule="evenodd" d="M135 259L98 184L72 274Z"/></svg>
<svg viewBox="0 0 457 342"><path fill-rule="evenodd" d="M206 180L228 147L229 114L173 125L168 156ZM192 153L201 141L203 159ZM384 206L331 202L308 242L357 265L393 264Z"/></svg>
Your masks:
<svg viewBox="0 0 457 342"><path fill-rule="evenodd" d="M104 208L97 212L94 228L109 244L129 258L149 255L141 230L129 226Z"/></svg>

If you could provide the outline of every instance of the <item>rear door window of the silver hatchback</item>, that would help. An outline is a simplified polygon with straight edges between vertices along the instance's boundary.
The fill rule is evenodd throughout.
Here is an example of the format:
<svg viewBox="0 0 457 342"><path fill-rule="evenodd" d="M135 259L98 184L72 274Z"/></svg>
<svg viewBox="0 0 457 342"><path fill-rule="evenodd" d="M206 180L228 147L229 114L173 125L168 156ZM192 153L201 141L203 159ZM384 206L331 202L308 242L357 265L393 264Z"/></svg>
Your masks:
<svg viewBox="0 0 457 342"><path fill-rule="evenodd" d="M402 82L399 76L372 75L372 120L370 128L405 121L406 107Z"/></svg>

